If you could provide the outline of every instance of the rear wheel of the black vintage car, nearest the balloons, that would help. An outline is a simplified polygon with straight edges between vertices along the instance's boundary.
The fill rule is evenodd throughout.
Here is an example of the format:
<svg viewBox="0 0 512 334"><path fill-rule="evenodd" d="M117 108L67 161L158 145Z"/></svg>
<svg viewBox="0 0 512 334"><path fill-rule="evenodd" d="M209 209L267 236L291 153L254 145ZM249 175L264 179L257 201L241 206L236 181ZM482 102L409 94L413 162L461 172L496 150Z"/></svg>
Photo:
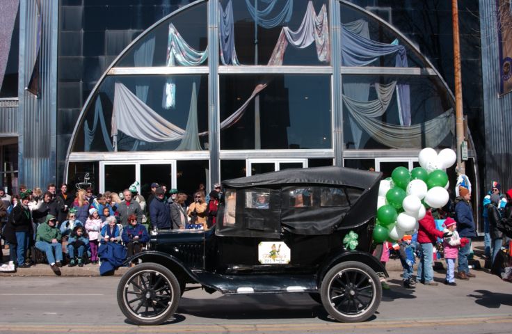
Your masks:
<svg viewBox="0 0 512 334"><path fill-rule="evenodd" d="M337 321L360 322L374 315L381 303L382 287L373 269L348 261L327 272L320 296L323 307Z"/></svg>

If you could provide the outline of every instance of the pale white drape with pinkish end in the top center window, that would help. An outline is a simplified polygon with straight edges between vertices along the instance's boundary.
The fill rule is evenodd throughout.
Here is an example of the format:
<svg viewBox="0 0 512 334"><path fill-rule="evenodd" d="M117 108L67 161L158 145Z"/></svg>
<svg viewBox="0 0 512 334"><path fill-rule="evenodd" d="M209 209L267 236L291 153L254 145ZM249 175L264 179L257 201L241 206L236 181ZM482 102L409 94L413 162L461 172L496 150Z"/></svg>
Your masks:
<svg viewBox="0 0 512 334"><path fill-rule="evenodd" d="M327 7L323 4L317 15L314 13L312 1L309 1L298 30L291 31L288 26L284 26L281 29L278 42L273 49L268 65L282 65L288 43L298 49L304 49L312 45L313 42L317 47L319 61L328 63L330 61L330 40Z"/></svg>

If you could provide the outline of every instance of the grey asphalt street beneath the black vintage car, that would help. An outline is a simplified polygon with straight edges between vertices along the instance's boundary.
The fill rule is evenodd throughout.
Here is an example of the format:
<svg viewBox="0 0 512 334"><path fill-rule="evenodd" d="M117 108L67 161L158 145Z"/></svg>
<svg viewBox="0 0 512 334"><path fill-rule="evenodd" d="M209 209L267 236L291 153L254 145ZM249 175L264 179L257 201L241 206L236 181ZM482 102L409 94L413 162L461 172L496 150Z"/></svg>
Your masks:
<svg viewBox="0 0 512 334"><path fill-rule="evenodd" d="M512 284L485 271L437 287L401 287L392 272L378 312L360 324L329 319L307 294L185 292L175 317L129 324L115 299L120 277L2 277L0 333L511 333ZM444 275L436 273L442 282Z"/></svg>

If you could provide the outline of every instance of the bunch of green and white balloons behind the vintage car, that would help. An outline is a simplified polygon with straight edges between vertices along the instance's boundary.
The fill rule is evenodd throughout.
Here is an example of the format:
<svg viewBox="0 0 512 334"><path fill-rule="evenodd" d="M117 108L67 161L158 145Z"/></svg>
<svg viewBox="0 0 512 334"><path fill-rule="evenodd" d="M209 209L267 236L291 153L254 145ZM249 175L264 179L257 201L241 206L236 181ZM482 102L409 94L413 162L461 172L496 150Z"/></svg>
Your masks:
<svg viewBox="0 0 512 334"><path fill-rule="evenodd" d="M377 221L373 237L376 243L399 240L403 234L414 234L426 207L444 207L448 200L446 168L455 164L454 150L435 152L424 148L419 152L419 166L394 168L391 177L381 180L378 189Z"/></svg>

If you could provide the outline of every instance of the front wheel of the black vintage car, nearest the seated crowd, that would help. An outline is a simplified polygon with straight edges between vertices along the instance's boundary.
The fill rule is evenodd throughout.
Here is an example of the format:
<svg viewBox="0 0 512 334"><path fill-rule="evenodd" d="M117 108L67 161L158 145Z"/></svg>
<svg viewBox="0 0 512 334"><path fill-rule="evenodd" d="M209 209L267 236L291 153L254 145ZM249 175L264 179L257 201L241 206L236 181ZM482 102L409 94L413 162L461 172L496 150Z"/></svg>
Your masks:
<svg viewBox="0 0 512 334"><path fill-rule="evenodd" d="M122 276L118 285L118 305L131 322L159 325L178 307L181 291L176 276L156 263L141 263Z"/></svg>

